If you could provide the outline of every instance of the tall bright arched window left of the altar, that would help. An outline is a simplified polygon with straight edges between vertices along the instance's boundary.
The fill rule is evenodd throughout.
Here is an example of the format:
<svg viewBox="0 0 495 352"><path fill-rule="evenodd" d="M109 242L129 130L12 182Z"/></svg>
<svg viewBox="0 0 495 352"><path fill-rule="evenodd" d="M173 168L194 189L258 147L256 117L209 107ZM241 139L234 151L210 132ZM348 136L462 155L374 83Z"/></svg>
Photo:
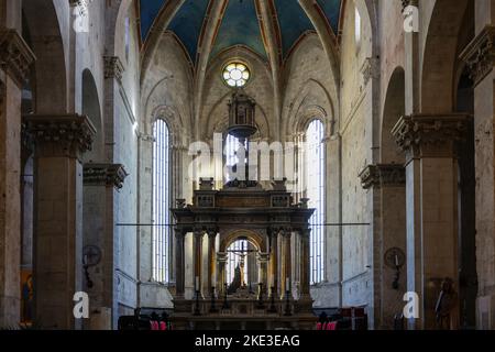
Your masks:
<svg viewBox="0 0 495 352"><path fill-rule="evenodd" d="M157 120L153 128L153 278L168 282L170 244L170 134Z"/></svg>

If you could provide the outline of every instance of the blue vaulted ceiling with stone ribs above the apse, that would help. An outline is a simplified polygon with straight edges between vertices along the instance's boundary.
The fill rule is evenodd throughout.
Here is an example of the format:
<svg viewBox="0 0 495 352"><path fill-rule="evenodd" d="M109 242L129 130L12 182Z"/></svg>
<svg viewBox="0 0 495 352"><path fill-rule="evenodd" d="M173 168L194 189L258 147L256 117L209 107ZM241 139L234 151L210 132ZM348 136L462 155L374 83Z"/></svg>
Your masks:
<svg viewBox="0 0 495 352"><path fill-rule="evenodd" d="M170 0L140 0L141 38L145 43L161 11ZM287 58L306 33L315 32L302 0L185 0L166 31L183 45L193 65L198 62L207 31L213 31L208 59L223 51L242 45L265 61ZM328 31L337 41L342 0L309 0ZM212 12L220 7L217 23L208 25ZM265 15L263 15L263 13ZM264 19L267 19L264 21ZM315 21L315 18L312 18ZM267 22L267 23L266 23ZM273 33L273 40L268 37Z"/></svg>

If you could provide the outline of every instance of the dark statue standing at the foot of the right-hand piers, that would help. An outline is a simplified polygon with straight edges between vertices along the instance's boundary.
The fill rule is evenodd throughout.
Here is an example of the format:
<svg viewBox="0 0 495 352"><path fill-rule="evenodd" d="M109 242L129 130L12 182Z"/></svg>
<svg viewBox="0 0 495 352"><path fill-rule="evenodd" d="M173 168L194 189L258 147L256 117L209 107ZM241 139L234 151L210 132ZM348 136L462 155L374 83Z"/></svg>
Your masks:
<svg viewBox="0 0 495 352"><path fill-rule="evenodd" d="M458 293L453 280L447 277L442 282L442 290L435 306L437 327L439 330L455 330L458 327Z"/></svg>

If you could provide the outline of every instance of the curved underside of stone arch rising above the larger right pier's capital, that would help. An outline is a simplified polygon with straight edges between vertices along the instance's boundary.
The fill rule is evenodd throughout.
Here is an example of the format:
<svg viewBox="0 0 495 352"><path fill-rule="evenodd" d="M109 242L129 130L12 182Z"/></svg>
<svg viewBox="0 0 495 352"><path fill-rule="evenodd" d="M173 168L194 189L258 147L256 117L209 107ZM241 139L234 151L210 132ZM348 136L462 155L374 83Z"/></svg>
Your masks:
<svg viewBox="0 0 495 352"><path fill-rule="evenodd" d="M451 112L454 108L459 36L470 0L437 0L422 54L421 111Z"/></svg>

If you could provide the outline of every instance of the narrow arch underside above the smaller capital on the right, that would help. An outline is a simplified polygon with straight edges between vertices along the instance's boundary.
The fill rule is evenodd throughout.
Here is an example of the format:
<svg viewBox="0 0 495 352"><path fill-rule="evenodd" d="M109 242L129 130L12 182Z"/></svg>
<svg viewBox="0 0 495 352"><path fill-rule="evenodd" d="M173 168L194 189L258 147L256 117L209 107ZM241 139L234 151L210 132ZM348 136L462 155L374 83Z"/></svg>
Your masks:
<svg viewBox="0 0 495 352"><path fill-rule="evenodd" d="M381 128L381 153L383 164L404 164L404 153L399 152L392 135L392 130L406 110L405 72L403 67L396 67L388 81L383 108Z"/></svg>

